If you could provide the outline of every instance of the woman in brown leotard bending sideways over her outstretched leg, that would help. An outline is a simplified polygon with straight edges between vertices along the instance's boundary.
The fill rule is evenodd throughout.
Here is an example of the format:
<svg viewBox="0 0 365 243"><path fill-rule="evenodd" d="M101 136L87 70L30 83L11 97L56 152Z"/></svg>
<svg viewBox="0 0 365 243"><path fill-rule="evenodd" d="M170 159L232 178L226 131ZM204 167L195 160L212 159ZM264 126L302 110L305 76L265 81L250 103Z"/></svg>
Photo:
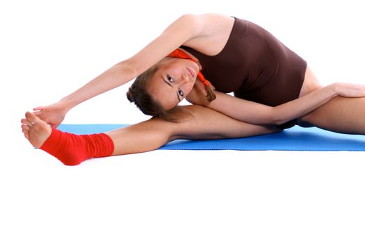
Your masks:
<svg viewBox="0 0 365 243"><path fill-rule="evenodd" d="M56 130L68 110L133 78L129 100L154 118L91 136ZM364 85L322 87L305 60L256 24L184 15L135 56L57 103L27 112L22 131L33 146L76 165L90 157L149 151L177 138L243 137L293 124L364 134L362 97ZM201 106L177 108L184 98Z"/></svg>

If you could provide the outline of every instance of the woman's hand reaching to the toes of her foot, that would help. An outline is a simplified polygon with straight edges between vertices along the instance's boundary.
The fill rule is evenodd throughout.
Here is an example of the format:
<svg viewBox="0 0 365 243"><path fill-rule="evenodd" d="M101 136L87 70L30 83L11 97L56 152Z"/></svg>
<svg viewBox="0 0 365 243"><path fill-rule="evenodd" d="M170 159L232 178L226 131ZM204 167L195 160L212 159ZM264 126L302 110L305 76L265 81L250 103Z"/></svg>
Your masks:
<svg viewBox="0 0 365 243"><path fill-rule="evenodd" d="M33 108L34 114L51 125L51 127L56 128L65 119L67 109L63 103L57 102L51 104L50 106L38 106Z"/></svg>

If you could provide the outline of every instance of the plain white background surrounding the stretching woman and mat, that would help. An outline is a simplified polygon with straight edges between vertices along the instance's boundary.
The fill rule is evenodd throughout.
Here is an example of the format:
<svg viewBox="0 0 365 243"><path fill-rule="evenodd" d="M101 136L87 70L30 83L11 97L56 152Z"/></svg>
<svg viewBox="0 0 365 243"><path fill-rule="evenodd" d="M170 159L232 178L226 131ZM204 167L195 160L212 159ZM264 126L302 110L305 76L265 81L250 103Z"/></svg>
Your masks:
<svg viewBox="0 0 365 243"><path fill-rule="evenodd" d="M66 167L24 140L26 110L204 12L268 29L323 84L365 83L360 1L1 1L0 242L365 241L364 153L152 151ZM126 90L65 123L147 119Z"/></svg>

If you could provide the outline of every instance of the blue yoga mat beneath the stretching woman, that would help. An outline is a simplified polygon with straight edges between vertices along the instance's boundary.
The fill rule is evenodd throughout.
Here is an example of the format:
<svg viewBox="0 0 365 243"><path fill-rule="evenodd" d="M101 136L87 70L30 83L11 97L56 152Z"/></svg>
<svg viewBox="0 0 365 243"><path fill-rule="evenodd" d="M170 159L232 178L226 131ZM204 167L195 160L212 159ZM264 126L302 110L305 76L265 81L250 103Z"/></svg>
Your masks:
<svg viewBox="0 0 365 243"><path fill-rule="evenodd" d="M128 125L61 124L58 128L75 134L104 133ZM160 149L172 150L280 150L365 151L364 135L333 133L320 128L294 126L282 133L222 140L175 140Z"/></svg>

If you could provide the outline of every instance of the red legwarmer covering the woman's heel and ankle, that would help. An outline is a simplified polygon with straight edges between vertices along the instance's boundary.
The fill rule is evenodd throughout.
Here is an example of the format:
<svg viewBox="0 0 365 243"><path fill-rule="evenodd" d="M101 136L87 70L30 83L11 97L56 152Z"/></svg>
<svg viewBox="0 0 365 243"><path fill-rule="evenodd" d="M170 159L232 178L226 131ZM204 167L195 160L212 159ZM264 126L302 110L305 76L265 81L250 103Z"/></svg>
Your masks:
<svg viewBox="0 0 365 243"><path fill-rule="evenodd" d="M52 128L52 133L40 147L65 165L79 165L88 158L111 156L114 143L105 133L76 135Z"/></svg>

